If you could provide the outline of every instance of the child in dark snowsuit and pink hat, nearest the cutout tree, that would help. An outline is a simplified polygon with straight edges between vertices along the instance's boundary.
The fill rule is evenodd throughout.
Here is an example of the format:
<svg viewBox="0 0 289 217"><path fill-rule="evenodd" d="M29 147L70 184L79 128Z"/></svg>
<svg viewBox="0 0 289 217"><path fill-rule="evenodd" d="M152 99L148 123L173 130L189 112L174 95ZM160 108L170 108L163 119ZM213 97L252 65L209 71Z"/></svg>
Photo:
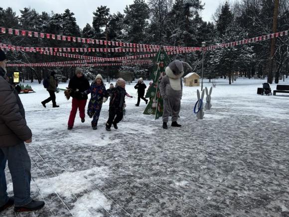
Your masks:
<svg viewBox="0 0 289 217"><path fill-rule="evenodd" d="M115 129L118 129L118 123L123 119L126 96L126 81L119 78L116 82L116 87L110 90L110 106L109 119L106 123L106 130L110 131L112 124Z"/></svg>

